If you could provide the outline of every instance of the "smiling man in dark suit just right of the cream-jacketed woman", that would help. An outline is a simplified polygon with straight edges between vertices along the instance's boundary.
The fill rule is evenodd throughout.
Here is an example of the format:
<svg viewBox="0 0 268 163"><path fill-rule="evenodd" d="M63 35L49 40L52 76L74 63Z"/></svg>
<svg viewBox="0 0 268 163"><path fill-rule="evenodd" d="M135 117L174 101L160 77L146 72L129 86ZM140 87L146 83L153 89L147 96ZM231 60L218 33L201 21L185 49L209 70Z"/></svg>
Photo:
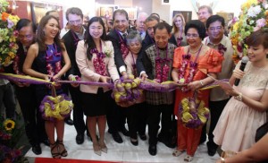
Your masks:
<svg viewBox="0 0 268 163"><path fill-rule="evenodd" d="M129 49L125 42L128 35L129 16L125 10L116 10L113 13L114 29L108 34L108 39L113 42L114 61L122 76L126 76L126 64L124 58L128 55ZM112 134L115 142L121 143L121 135L119 131L125 136L129 136L129 131L125 128L125 119L123 113L124 109L119 106L114 106L107 113L107 124L109 126L108 132Z"/></svg>

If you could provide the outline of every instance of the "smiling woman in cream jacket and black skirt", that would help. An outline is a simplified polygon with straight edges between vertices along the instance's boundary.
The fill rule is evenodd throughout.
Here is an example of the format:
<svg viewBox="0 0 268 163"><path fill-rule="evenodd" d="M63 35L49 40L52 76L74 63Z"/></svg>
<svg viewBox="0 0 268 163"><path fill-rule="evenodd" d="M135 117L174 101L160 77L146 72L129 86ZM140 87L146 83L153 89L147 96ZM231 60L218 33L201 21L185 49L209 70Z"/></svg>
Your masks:
<svg viewBox="0 0 268 163"><path fill-rule="evenodd" d="M81 81L113 82L119 79L113 59L113 46L106 41L105 24L102 18L93 17L88 21L85 39L80 40L76 50L76 62L80 69ZM90 85L80 85L81 103L87 116L88 131L96 155L107 153L105 144L106 113L113 106L112 90ZM90 109L88 109L90 106ZM96 139L96 124L99 139Z"/></svg>

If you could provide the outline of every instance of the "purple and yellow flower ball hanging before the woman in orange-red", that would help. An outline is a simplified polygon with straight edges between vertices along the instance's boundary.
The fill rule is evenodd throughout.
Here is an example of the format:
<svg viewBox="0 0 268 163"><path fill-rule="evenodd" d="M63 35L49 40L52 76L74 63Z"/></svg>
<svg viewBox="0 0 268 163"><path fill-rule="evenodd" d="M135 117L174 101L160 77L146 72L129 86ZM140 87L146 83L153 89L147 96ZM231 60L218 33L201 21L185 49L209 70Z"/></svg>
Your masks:
<svg viewBox="0 0 268 163"><path fill-rule="evenodd" d="M209 109L205 102L197 98L182 99L179 106L181 122L188 128L198 128L205 124L209 117Z"/></svg>

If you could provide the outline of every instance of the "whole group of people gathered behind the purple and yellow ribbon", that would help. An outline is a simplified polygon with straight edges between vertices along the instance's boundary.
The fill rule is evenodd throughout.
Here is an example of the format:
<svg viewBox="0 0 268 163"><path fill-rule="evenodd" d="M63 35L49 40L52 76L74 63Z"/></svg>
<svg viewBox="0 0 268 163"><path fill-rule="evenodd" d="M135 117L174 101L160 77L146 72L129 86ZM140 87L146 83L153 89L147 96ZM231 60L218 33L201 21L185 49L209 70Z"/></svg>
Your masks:
<svg viewBox="0 0 268 163"><path fill-rule="evenodd" d="M202 101L211 113L208 155L214 156L219 145L222 150L234 152L253 146L255 130L266 122L268 108L267 30L258 30L247 39L249 62L243 72L239 70L241 63L235 65L232 61L233 49L224 35L224 19L213 15L209 6L199 8L199 20L185 22L181 13L176 14L172 27L157 14L139 13L132 30L128 13L121 9L113 13L112 30L107 30L107 20L101 17L93 17L83 26L83 13L77 7L66 11L66 19L70 30L62 39L59 18L52 14L41 19L37 32L31 21L21 19L17 24L19 50L11 71L53 82L80 77L84 82L118 83L133 74L142 81L173 81L182 85L168 92L144 90L134 105L121 107L112 99L112 90L106 87L55 84L56 94L68 91L71 94L78 144L84 142L88 130L94 152L97 155L108 152L105 144L108 124L108 133L115 142L122 142L122 133L130 136L130 142L137 146L138 136L147 140L148 125L148 152L152 156L157 154L157 142L163 142L169 148L177 146L172 152L174 157L186 151L184 160L190 162L197 146L206 141L206 124L193 128L181 120L182 101L194 99L196 106L189 106L191 109L197 113L197 101ZM233 89L200 90L214 79L230 79L231 86L236 79L240 83ZM46 144L53 158L66 157L64 121L42 118L38 111L42 99L51 95L51 86L13 83L33 152L40 154L39 143L48 140ZM172 134L173 116L178 117L176 134ZM172 142L174 136L177 140Z"/></svg>

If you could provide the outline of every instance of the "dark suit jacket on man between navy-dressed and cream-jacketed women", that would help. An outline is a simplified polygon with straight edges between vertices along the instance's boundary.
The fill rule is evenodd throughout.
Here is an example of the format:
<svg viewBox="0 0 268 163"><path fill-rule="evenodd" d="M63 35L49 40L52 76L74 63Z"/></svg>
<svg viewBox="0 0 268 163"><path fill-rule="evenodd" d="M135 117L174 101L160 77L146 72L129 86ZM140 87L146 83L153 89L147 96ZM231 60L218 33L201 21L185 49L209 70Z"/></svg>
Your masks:
<svg viewBox="0 0 268 163"><path fill-rule="evenodd" d="M75 33L74 33L74 35L76 36ZM77 37L77 39L78 39L78 37ZM70 57L70 60L71 60L71 68L65 74L66 78L68 78L68 76L70 74L81 76L80 70L79 70L78 65L77 65L77 63L75 61L75 52L76 52L77 45L75 45L75 38L73 37L73 35L71 33L71 30L69 30L63 36L63 43L64 43L64 45L66 47L68 56Z"/></svg>

